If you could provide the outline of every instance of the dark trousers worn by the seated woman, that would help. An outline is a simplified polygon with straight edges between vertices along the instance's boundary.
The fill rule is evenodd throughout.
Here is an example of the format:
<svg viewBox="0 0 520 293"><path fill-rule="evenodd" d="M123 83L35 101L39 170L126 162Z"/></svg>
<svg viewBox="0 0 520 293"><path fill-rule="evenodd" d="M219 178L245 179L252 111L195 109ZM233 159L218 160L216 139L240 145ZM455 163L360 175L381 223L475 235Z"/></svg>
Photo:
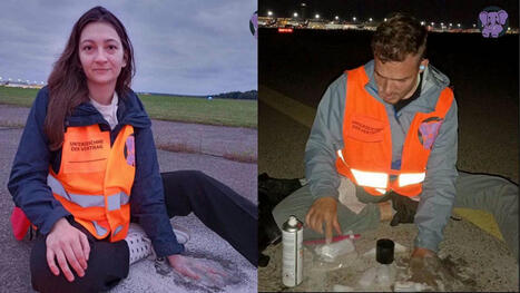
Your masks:
<svg viewBox="0 0 520 293"><path fill-rule="evenodd" d="M253 265L257 264L257 207L220 182L198 170L161 173L165 202L169 217L195 215L210 229L226 240ZM98 241L73 219L90 245L88 268L79 277L72 267L73 282L62 272L55 276L47 264L46 237L39 236L32 247L30 271L32 287L40 292L107 291L128 275L129 252L125 241ZM189 228L189 227L188 227Z"/></svg>

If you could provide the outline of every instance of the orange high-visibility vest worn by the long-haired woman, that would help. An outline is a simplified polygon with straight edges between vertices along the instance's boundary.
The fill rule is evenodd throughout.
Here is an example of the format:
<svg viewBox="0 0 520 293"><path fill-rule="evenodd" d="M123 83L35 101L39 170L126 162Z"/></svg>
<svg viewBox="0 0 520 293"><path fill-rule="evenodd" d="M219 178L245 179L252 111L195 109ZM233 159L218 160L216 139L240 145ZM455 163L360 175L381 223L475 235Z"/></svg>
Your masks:
<svg viewBox="0 0 520 293"><path fill-rule="evenodd" d="M133 126L124 126L111 147L110 133L98 125L68 127L59 173L50 168L47 184L90 234L116 242L128 232L135 173Z"/></svg>

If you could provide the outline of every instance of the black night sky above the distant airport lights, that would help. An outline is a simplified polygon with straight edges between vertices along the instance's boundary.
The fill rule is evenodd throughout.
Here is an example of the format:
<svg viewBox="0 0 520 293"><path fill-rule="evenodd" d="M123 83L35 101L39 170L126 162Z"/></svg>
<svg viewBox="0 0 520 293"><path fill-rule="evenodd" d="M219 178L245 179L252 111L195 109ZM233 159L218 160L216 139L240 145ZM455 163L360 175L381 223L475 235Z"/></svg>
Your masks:
<svg viewBox="0 0 520 293"><path fill-rule="evenodd" d="M306 3L306 18L320 13L321 18L357 20L383 19L391 12L408 12L420 20L435 23L453 22L470 27L478 22L479 13L489 6L498 6L509 14L509 26L518 28L519 1L490 0L258 0L258 14L266 16L272 10L274 17L301 14L300 4Z"/></svg>

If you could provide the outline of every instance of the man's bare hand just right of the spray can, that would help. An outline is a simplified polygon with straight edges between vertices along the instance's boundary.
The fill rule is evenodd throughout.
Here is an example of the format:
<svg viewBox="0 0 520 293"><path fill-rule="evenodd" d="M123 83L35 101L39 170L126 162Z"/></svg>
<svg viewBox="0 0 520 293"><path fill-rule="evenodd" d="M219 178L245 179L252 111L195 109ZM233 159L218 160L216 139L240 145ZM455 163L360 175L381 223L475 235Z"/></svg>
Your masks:
<svg viewBox="0 0 520 293"><path fill-rule="evenodd" d="M305 216L305 223L320 234L323 234L323 224L325 224L325 240L327 244L332 242L333 228L341 235L342 231L337 222L336 198L322 197L316 199Z"/></svg>

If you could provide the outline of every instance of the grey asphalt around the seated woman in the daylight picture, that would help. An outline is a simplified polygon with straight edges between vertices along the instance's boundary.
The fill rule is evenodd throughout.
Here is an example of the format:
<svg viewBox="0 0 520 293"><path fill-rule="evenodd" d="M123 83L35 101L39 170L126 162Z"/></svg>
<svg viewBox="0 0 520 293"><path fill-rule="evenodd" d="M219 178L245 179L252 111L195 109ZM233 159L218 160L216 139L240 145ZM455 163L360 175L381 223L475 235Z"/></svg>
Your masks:
<svg viewBox="0 0 520 293"><path fill-rule="evenodd" d="M0 216L4 219L0 223L0 250L2 252L0 254L0 267L2 268L0 270L0 292L32 292L29 273L29 254L32 243L27 238L18 242L12 236L9 217L13 203L7 191L11 164L22 131L20 124L24 123L24 117L27 117L26 108L0 107L0 164L3 166L0 169ZM165 131L168 130L167 123L157 124L160 124ZM193 131L194 127L198 131ZM170 125L169 128L171 129L173 126ZM186 125L183 128L177 124L174 128L176 133L183 133L183 129L189 130L193 138L195 134L204 134L204 126L200 125ZM226 131L226 129L223 127L220 130ZM241 129L227 130L244 131ZM216 128L212 126L207 131L215 134ZM256 130L253 129L253 135L249 130L245 131L247 135L242 137L244 140L243 149L255 146L253 152L256 152ZM226 135L220 136L222 141L217 145L233 143L225 141L226 137ZM202 141L202 139L199 138L197 141ZM237 139L237 137L233 139ZM224 154L225 150L220 153ZM256 164L232 162L215 154L181 154L160 149L158 150L158 159L161 172L198 169L230 186L253 203L257 201ZM224 267L230 268L236 282L219 290L210 289L188 282L173 272L167 276L158 275L155 272L154 262L144 260L130 266L128 279L124 280L111 292L256 292L256 267L252 266L227 242L204 226L193 214L186 217L175 217L173 223L187 228L192 234L190 241L186 244L188 255L216 261Z"/></svg>

